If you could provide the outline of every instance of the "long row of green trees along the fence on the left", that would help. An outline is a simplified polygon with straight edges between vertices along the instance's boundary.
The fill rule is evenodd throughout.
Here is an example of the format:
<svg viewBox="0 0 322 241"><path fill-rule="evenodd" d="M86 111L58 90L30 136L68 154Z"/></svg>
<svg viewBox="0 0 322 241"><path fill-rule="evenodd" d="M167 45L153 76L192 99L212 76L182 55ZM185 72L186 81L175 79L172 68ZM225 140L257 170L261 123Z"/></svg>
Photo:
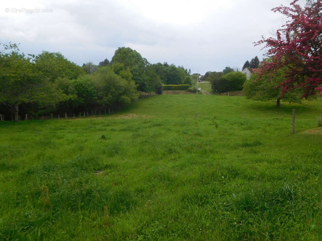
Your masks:
<svg viewBox="0 0 322 241"><path fill-rule="evenodd" d="M130 48L118 48L110 62L106 58L80 67L59 52L25 55L17 44L2 46L0 109L15 121L19 112L37 116L123 107L140 92L162 94L163 84L192 84L190 69L151 64Z"/></svg>

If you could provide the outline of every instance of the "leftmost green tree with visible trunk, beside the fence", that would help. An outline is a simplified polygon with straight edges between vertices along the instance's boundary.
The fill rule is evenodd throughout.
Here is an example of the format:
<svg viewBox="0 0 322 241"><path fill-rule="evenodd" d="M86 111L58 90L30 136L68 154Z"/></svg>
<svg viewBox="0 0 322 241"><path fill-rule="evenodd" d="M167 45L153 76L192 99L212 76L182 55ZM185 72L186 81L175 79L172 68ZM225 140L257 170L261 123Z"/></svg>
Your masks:
<svg viewBox="0 0 322 241"><path fill-rule="evenodd" d="M12 51L0 55L0 102L10 107L15 121L19 120L22 103L37 103L44 107L66 98L59 86L24 54Z"/></svg>

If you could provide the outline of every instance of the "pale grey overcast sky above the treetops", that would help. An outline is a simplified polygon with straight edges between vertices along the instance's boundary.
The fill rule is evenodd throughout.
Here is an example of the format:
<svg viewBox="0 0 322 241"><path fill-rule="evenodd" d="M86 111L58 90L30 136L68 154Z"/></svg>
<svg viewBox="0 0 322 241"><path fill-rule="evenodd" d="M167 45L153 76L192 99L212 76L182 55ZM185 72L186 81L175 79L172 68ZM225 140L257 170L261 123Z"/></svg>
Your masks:
<svg viewBox="0 0 322 241"><path fill-rule="evenodd" d="M0 43L20 43L26 54L61 52L79 65L111 60L125 46L150 63L174 63L204 75L241 68L256 55L262 60L265 51L252 42L287 21L270 10L291 1L2 0Z"/></svg>

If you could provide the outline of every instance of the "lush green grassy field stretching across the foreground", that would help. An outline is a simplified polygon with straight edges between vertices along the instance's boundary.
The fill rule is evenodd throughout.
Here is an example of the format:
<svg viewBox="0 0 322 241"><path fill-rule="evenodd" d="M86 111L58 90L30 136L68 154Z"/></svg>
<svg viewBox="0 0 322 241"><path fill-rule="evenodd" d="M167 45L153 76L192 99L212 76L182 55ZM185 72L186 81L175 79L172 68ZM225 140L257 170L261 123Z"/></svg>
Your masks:
<svg viewBox="0 0 322 241"><path fill-rule="evenodd" d="M157 95L0 122L0 239L321 240L322 135L304 133L320 113L321 99Z"/></svg>

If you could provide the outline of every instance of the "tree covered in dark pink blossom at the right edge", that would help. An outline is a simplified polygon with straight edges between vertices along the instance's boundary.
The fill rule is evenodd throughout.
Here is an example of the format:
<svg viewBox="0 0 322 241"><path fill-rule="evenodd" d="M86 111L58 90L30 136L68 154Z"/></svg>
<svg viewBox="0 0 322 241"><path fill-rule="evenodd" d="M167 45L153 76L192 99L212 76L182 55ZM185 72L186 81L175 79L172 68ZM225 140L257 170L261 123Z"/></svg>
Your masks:
<svg viewBox="0 0 322 241"><path fill-rule="evenodd" d="M287 21L277 30L276 38L270 37L255 42L265 44L270 62L262 61L260 76L286 69L281 87L281 96L292 89L300 88L300 98L322 94L322 0L309 1L302 8L293 1L290 6L279 6L272 11L286 15ZM263 49L264 49L263 48Z"/></svg>

